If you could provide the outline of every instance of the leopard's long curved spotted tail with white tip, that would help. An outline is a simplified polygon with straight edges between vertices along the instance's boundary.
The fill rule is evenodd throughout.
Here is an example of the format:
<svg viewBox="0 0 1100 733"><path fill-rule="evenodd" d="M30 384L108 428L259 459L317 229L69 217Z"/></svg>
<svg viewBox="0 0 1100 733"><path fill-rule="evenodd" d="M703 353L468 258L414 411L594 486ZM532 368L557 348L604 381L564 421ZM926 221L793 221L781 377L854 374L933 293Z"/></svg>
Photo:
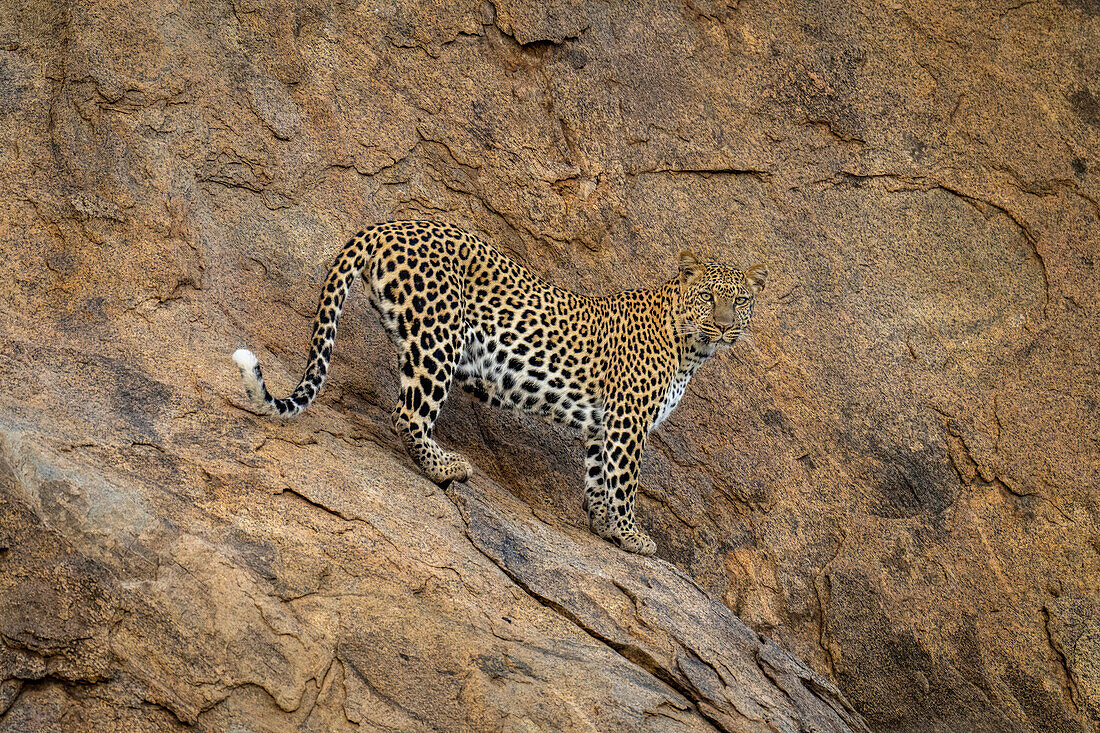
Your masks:
<svg viewBox="0 0 1100 733"><path fill-rule="evenodd" d="M344 245L332 263L317 304L317 315L314 317L314 338L309 348L306 373L290 396L276 398L267 392L263 373L260 371L260 362L254 353L248 349L238 349L233 352L233 361L241 370L244 391L249 393L249 400L255 412L261 415L293 417L317 397L329 371L332 344L337 338L337 322L343 310L344 298L355 276L366 266L366 237L360 232Z"/></svg>

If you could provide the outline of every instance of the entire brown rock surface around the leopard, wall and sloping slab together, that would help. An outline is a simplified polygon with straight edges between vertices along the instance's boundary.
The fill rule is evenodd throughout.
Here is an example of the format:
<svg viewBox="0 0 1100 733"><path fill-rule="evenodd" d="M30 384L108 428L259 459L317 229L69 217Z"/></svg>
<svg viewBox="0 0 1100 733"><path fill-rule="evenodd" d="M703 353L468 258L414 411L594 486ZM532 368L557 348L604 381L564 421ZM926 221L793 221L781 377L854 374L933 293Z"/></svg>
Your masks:
<svg viewBox="0 0 1100 733"><path fill-rule="evenodd" d="M1098 48L1092 0L0 4L0 730L1100 729ZM362 297L302 418L242 408L411 217L588 293L770 265L650 440L659 559L463 396L483 473L420 479Z"/></svg>

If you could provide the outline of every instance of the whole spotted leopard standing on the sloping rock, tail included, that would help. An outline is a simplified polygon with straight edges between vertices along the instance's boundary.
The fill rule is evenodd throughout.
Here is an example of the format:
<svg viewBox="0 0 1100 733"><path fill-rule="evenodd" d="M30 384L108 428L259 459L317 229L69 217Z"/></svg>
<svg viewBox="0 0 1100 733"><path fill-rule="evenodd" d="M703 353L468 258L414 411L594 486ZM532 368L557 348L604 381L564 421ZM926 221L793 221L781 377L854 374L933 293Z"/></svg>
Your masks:
<svg viewBox="0 0 1100 733"><path fill-rule="evenodd" d="M428 479L448 490L473 478L471 463L433 438L458 385L579 435L590 529L629 553L653 555L657 544L635 516L647 438L696 370L748 331L768 267L739 270L684 250L663 284L590 296L546 282L458 226L376 223L336 258L306 370L289 396L268 393L254 353L233 353L253 412L290 417L317 397L344 299L361 276L397 351L391 422Z"/></svg>

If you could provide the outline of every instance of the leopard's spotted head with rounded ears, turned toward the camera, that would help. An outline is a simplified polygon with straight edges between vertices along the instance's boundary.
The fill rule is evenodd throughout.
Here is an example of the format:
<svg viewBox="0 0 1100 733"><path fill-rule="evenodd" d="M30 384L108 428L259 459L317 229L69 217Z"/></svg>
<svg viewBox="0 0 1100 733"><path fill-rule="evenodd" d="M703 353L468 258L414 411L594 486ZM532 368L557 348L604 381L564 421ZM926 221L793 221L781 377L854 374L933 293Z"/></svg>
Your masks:
<svg viewBox="0 0 1100 733"><path fill-rule="evenodd" d="M733 346L749 327L756 295L767 278L763 264L741 272L681 252L680 330L698 343Z"/></svg>

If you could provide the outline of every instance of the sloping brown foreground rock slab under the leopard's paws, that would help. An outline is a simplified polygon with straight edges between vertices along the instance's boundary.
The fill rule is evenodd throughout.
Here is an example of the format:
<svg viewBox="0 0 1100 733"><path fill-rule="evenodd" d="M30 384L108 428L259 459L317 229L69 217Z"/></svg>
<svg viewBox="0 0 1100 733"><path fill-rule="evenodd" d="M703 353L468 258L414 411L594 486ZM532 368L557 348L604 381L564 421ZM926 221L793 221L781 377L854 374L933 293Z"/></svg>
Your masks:
<svg viewBox="0 0 1100 733"><path fill-rule="evenodd" d="M866 730L662 560L202 402L163 450L6 425L0 729Z"/></svg>

